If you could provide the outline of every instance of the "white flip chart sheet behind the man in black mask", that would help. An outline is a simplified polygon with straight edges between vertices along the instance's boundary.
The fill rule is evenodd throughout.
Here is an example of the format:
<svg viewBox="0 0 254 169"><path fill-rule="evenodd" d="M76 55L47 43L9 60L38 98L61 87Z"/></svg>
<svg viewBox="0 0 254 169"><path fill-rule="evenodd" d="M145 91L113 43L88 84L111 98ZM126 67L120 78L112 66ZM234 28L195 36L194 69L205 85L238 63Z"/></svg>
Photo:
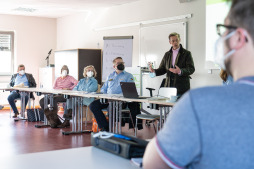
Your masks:
<svg viewBox="0 0 254 169"><path fill-rule="evenodd" d="M106 38L104 40L103 49L103 70L102 81L106 81L106 78L110 73L114 71L113 60L116 57L122 57L125 62L125 66L132 66L132 51L133 51L133 39L112 39Z"/></svg>

